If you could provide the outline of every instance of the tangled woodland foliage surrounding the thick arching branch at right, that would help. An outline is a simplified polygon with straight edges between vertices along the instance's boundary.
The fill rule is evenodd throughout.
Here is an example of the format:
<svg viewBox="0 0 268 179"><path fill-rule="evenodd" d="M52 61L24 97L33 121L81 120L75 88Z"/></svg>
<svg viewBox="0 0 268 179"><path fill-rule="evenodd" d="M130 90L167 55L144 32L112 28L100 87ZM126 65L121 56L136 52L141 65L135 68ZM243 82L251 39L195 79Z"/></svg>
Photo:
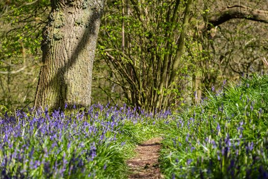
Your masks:
<svg viewBox="0 0 268 179"><path fill-rule="evenodd" d="M194 42L200 44L199 53L203 58L207 58L206 60L198 58L196 63L197 69L201 72L196 78L200 80L199 89L203 92L206 91L205 88L208 89L212 85L221 86L218 81L223 78L239 79L243 73L251 72L251 66L258 72L264 69L261 59L268 55L267 23L235 18L209 31L202 30L203 27L210 26L209 19L212 16L220 15L215 12L233 5L243 5L252 10L267 10L265 1L213 0L199 1L196 4L195 19L191 20L191 29L195 29L191 33L195 34L191 36ZM188 48L192 48L191 43Z"/></svg>

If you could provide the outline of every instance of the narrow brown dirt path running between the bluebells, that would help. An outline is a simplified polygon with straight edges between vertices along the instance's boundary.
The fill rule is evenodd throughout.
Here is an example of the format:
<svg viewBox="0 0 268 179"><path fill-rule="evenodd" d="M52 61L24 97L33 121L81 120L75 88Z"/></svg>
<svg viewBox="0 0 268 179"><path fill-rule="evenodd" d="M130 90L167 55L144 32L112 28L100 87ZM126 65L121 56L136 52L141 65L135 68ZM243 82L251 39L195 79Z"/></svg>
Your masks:
<svg viewBox="0 0 268 179"><path fill-rule="evenodd" d="M163 178L160 173L158 158L161 137L153 138L140 144L135 151L137 156L127 161L131 174L129 178Z"/></svg>

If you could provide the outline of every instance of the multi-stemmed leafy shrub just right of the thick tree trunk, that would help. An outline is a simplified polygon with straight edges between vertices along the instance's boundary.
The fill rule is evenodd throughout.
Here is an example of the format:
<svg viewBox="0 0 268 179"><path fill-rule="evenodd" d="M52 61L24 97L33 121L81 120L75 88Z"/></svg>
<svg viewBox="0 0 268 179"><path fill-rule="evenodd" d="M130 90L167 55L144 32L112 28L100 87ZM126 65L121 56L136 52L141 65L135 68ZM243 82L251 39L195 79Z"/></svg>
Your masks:
<svg viewBox="0 0 268 179"><path fill-rule="evenodd" d="M187 62L182 59L177 67L176 63L183 54L183 48L178 47L184 40L184 36L179 39L180 34L186 30L182 23L186 4L136 0L107 3L97 58L113 73L104 78L121 87L128 104L154 111L182 101Z"/></svg>

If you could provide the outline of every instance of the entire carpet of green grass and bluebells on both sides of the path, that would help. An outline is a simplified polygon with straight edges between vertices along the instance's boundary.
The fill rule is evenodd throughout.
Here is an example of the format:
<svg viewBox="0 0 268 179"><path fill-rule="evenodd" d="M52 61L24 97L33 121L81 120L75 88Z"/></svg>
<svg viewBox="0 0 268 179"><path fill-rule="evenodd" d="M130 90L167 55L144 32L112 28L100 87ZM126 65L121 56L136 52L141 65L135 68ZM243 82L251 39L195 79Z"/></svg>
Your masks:
<svg viewBox="0 0 268 179"><path fill-rule="evenodd" d="M136 145L162 134L166 178L268 178L267 126L268 76L256 74L171 118L126 106L17 111L0 115L0 178L126 178Z"/></svg>

